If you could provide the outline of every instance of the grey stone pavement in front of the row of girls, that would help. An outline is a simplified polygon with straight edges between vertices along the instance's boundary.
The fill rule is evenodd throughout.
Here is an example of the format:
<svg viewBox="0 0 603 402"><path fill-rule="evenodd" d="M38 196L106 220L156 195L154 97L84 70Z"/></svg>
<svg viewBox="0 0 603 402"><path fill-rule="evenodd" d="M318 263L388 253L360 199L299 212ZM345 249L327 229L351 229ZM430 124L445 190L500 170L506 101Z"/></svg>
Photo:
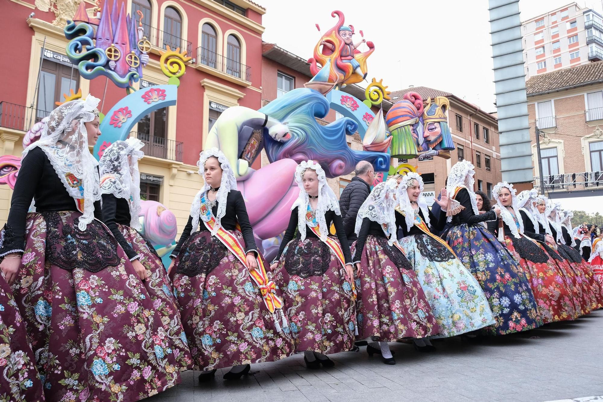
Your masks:
<svg viewBox="0 0 603 402"><path fill-rule="evenodd" d="M551 401L603 395L603 310L577 321L545 325L525 334L481 343L459 337L434 342L420 353L390 343L396 365L359 353L330 355L335 367L308 370L296 354L251 366L239 381L200 385L198 372L183 373L180 386L145 402L206 401Z"/></svg>

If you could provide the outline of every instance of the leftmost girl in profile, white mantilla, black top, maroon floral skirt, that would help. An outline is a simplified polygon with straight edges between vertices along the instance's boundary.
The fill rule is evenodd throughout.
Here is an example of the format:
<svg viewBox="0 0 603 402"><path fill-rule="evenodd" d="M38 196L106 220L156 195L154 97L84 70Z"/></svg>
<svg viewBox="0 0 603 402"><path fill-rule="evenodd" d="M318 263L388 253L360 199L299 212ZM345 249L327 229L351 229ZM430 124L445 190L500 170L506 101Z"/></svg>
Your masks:
<svg viewBox="0 0 603 402"><path fill-rule="evenodd" d="M57 107L25 149L0 249L49 401L136 401L180 380L153 300L99 220L98 101Z"/></svg>

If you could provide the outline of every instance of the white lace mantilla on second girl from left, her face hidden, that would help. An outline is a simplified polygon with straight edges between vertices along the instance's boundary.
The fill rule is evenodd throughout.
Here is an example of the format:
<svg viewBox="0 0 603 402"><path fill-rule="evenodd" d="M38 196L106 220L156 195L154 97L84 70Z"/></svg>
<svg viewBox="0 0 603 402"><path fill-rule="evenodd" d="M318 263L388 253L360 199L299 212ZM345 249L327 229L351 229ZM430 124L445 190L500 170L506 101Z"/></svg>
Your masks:
<svg viewBox="0 0 603 402"><path fill-rule="evenodd" d="M140 171L138 160L145 156L140 149L144 143L136 138L115 141L101 156L101 192L127 200L130 207L130 226L142 229L140 214ZM129 157L129 158L128 158Z"/></svg>

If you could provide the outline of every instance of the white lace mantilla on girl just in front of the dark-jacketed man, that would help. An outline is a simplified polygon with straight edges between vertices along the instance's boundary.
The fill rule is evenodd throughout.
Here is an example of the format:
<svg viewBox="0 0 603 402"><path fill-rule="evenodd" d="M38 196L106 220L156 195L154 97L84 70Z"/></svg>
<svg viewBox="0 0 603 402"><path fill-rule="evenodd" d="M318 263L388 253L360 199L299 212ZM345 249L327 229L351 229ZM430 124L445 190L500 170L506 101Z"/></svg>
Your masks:
<svg viewBox="0 0 603 402"><path fill-rule="evenodd" d="M365 218L370 219L373 222L379 223L381 229L383 229L385 236L388 238L390 246L394 244L397 239L397 227L396 227L396 180L386 180L377 184L373 191L368 195L368 198L362 203L360 209L358 209L358 215L356 216L356 226L354 231L356 235L360 234L360 228L362 227L362 221ZM387 229L383 225L386 225Z"/></svg>

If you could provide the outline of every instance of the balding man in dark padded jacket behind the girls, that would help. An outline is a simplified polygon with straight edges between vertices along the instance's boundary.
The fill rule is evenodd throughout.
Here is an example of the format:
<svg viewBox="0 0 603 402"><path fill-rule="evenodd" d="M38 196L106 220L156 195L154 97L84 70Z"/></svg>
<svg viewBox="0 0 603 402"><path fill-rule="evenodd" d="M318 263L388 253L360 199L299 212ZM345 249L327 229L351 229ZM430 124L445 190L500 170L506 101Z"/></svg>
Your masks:
<svg viewBox="0 0 603 402"><path fill-rule="evenodd" d="M346 229L347 240L350 244L356 240L356 233L354 232L356 216L358 215L358 209L371 192L375 171L370 162L361 161L356 165L355 174L356 176L352 177L352 181L343 189L343 193L339 197L343 226Z"/></svg>

